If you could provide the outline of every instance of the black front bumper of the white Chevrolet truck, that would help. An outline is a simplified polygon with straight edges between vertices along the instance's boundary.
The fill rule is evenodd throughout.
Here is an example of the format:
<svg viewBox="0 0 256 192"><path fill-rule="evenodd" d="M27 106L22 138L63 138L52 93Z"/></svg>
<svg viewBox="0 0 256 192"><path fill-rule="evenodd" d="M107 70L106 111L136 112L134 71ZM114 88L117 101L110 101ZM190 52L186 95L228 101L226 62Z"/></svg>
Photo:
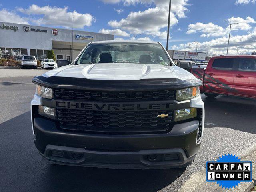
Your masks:
<svg viewBox="0 0 256 192"><path fill-rule="evenodd" d="M190 107L202 108L200 97L187 102ZM175 124L170 132L157 134L98 134L60 130L54 120L34 116L34 105L42 104L35 95L31 102L34 142L44 160L54 164L121 169L179 168L190 165L200 149L196 143L199 120ZM186 105L187 105L186 104ZM80 154L70 158L65 154ZM60 156L52 154L62 154ZM159 156L156 161L147 157ZM167 158L166 160L166 157Z"/></svg>

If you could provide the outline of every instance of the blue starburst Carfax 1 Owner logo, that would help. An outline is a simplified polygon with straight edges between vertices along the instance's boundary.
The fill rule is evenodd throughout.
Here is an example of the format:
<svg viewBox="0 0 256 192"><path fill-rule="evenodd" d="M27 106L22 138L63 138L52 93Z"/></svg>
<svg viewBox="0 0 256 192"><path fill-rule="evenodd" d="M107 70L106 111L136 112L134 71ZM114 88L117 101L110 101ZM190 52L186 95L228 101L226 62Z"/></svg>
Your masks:
<svg viewBox="0 0 256 192"><path fill-rule="evenodd" d="M206 162L206 181L217 182L222 188L252 181L252 162L241 161L232 154L222 155L217 161Z"/></svg>

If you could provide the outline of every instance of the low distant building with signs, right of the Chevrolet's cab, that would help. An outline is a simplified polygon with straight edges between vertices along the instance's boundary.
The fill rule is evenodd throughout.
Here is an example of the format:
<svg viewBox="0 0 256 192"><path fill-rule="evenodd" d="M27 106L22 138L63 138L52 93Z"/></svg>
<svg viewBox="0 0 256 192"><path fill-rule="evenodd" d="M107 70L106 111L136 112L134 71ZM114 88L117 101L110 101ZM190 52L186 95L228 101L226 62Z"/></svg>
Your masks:
<svg viewBox="0 0 256 192"><path fill-rule="evenodd" d="M205 61L206 58L204 52L168 50L168 54L173 60Z"/></svg>

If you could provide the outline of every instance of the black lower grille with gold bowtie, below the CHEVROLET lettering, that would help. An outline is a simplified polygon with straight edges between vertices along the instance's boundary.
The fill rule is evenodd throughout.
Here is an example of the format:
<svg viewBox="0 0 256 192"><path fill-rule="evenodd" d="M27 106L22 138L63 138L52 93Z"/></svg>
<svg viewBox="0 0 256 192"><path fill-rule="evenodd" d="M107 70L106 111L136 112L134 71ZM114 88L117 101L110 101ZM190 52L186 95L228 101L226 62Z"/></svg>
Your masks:
<svg viewBox="0 0 256 192"><path fill-rule="evenodd" d="M61 125L73 130L140 132L163 131L170 128L172 111L90 111L57 108ZM167 117L157 117L168 114ZM63 126L62 126L63 127Z"/></svg>

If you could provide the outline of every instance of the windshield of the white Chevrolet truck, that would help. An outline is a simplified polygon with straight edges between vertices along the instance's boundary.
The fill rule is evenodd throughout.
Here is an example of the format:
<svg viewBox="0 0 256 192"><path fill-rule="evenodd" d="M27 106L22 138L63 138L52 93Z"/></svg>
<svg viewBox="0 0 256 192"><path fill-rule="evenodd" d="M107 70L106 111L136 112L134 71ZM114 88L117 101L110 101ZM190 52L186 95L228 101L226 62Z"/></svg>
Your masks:
<svg viewBox="0 0 256 192"><path fill-rule="evenodd" d="M79 56L76 64L140 63L170 65L160 44L153 43L95 43Z"/></svg>

